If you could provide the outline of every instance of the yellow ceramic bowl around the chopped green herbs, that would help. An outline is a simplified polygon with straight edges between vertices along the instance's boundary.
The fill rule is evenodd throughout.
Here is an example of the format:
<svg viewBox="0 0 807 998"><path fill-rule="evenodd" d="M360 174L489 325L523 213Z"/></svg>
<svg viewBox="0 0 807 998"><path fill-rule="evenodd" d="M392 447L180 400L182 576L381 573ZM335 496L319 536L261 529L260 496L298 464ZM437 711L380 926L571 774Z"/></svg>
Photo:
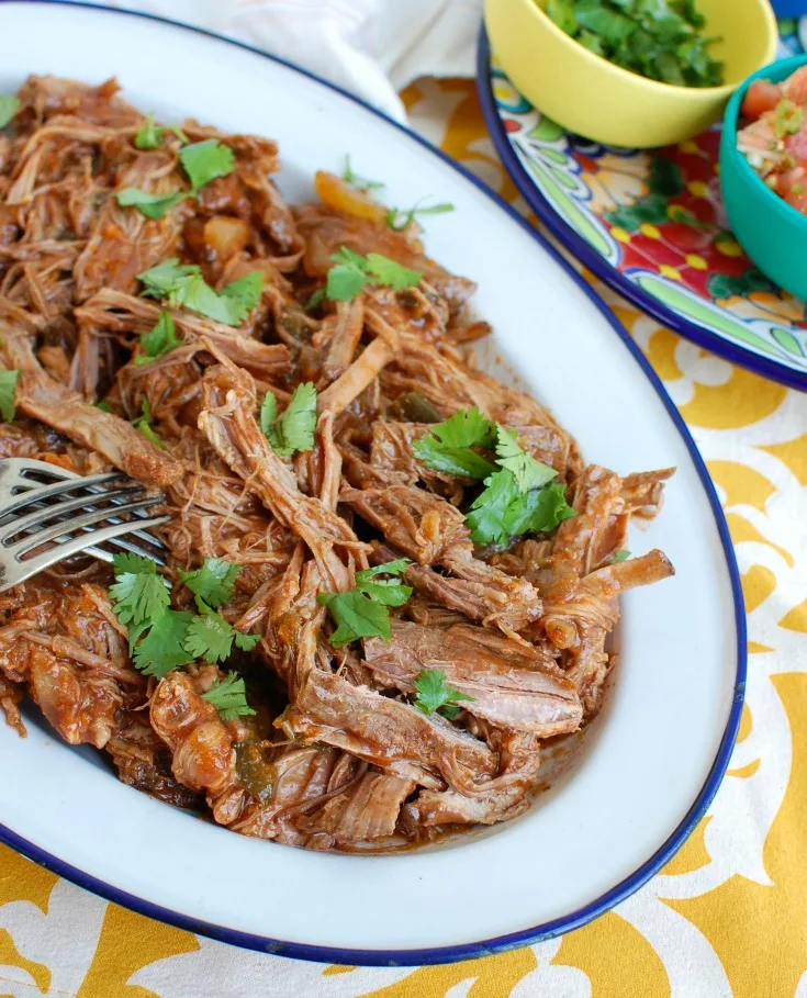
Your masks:
<svg viewBox="0 0 807 998"><path fill-rule="evenodd" d="M485 0L495 58L536 108L570 132L607 145L665 146L720 117L731 92L772 61L776 20L767 0L696 0L709 49L726 64L721 87L673 87L593 55L546 14L547 0Z"/></svg>

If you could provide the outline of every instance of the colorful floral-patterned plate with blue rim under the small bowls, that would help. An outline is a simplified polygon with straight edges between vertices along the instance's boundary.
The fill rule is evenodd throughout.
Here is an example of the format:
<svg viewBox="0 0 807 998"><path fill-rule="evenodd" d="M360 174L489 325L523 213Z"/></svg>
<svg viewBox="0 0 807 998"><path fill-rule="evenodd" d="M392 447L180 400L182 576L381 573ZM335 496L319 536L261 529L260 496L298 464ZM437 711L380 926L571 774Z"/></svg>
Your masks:
<svg viewBox="0 0 807 998"><path fill-rule="evenodd" d="M807 18L780 22L780 56L805 51ZM664 325L765 377L807 390L807 304L749 260L720 201L720 128L663 149L572 135L515 89L482 31L478 86L516 186L593 273Z"/></svg>

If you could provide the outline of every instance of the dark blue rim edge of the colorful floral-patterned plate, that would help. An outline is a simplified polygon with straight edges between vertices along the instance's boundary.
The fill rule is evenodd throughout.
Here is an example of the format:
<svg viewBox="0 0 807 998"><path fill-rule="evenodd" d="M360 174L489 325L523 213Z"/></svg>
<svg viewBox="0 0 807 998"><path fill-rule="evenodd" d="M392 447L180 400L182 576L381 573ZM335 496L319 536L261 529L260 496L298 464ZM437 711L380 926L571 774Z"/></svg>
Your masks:
<svg viewBox="0 0 807 998"><path fill-rule="evenodd" d="M780 365L775 360L769 360L753 350L747 350L744 347L718 336L717 333L709 332L704 326L691 322L679 312L668 307L658 298L635 284L634 281L620 273L615 267L612 267L607 260L603 259L590 246L583 236L560 217L530 179L529 173L527 173L513 150L507 133L504 131L502 119L496 110L496 100L493 96L491 46L484 24L480 29L477 47L477 91L482 105L485 126L493 145L519 193L561 246L564 246L575 256L598 280L617 291L623 298L652 316L657 322L668 326L673 333L691 339L697 346L703 347L704 350L709 350L709 352L717 354L732 363L740 365L740 367L747 368L761 378L770 378L772 381L778 381L788 388L798 389L803 392L807 391L807 373Z"/></svg>

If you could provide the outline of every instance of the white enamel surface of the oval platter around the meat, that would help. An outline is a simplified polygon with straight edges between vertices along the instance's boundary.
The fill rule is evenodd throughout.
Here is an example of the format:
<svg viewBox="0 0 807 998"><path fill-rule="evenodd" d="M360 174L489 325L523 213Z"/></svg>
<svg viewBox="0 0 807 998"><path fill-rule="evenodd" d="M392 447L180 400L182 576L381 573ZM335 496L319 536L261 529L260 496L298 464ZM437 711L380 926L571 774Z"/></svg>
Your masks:
<svg viewBox="0 0 807 998"><path fill-rule="evenodd" d="M46 31L43 31L46 26ZM0 4L0 92L30 72L117 76L158 119L193 115L280 142L280 186L311 193L345 153L390 203L450 201L430 254L477 279L496 329L491 369L520 372L589 460L627 473L675 464L661 517L630 547L677 575L624 599L607 716L571 778L539 807L461 848L323 855L246 839L123 786L44 728L0 725L0 822L110 889L267 939L362 950L442 947L536 927L591 905L673 834L702 792L732 704L730 572L687 445L639 365L572 277L446 161L339 93L244 48L136 16ZM471 902L460 899L464 892ZM337 954L338 956L338 954ZM333 954L332 954L332 958Z"/></svg>

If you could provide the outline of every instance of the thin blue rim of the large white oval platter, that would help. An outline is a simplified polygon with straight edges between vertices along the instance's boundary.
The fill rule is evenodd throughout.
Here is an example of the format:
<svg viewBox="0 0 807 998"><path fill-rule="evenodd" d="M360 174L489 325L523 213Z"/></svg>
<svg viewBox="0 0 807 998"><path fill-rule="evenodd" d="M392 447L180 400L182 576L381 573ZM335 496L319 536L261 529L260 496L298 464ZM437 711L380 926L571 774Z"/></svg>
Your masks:
<svg viewBox="0 0 807 998"><path fill-rule="evenodd" d="M3 2L3 0L0 0L0 3L1 2ZM661 867L673 857L673 855L679 851L679 849L684 844L688 836L692 833L697 822L705 815L706 809L717 793L717 788L720 785L720 782L722 781L722 777L729 764L729 758L731 755L735 739L737 738L737 731L740 725L740 715L742 713L742 704L746 691L746 675L748 665L746 610L742 599L742 588L740 585L740 573L737 567L737 559L735 558L735 550L731 545L728 526L720 507L720 501L717 497L717 492L715 491L714 483L709 478L708 471L706 470L706 466L703 458L700 457L700 452L698 451L697 446L686 427L686 424L681 418L681 415L679 414L679 411L675 407L673 401L666 394L666 391L664 390L664 386L662 385L659 377L655 374L649 362L645 359L645 356L640 351L639 347L634 343L625 327L614 316L605 302L597 296L597 294L585 283L583 278L580 277L574 268L571 267L570 263L564 260L563 257L541 235L539 235L535 228L526 222L525 218L523 218L513 208L504 202L485 183L474 177L473 173L471 173L464 167L460 166L458 162L451 159L444 152L433 146L429 142L427 142L425 138L422 138L415 132L412 132L410 128L405 127L399 122L388 117L385 114L372 108L370 104L366 103L354 94L348 93L348 91L343 90L340 87L337 87L334 83L329 83L327 80L322 79L322 77L318 77L313 72L309 72L306 69L301 69L299 66L295 66L293 63L289 63L287 59L281 59L278 56L271 56L268 53L262 52L260 48L255 48L254 46L246 45L243 42L235 42L232 38L225 38L215 32L205 31L204 29L194 27L189 24L182 24L179 21L172 21L169 18L159 18L155 14L141 13L139 11L131 11L123 8L98 7L94 3L83 2L83 0L14 0L14 2L31 5L47 4L58 5L61 8L71 7L98 11L99 14L135 16L144 21L155 21L159 24L168 24L172 27L180 27L184 31L193 32L194 34L214 38L215 41L221 42L225 45L235 45L237 48L255 53L262 58L278 63L281 66L284 66L287 69L292 69L293 71L299 72L309 79L315 80L323 87L327 87L328 90L340 93L343 97L348 98L355 104L365 108L371 114L380 117L382 121L397 128L399 132L402 132L404 135L408 135L419 146L427 149L433 155L439 157L444 162L448 164L453 170L460 173L460 176L464 177L466 180L469 180L471 183L473 183L475 188L486 194L491 201L498 205L502 211L504 211L507 215L509 215L511 218L517 222L525 232L529 233L529 235L556 261L556 263L558 263L558 266L561 267L563 271L572 278L580 290L586 295L586 298L589 298L589 300L598 309L603 317L606 318L610 324L623 346L628 350L634 360L645 372L652 386L655 389L659 399L670 414L670 418L675 425L675 428L681 434L681 437L683 438L684 444L690 451L693 463L695 464L697 473L700 478L700 482L704 486L704 491L708 497L709 505L711 506L715 524L717 526L720 541L722 543L724 554L726 557L726 567L728 569L731 582L731 592L735 604L735 624L737 628L737 675L735 680L733 697L731 708L729 710L726 730L724 731L717 754L715 756L715 761L711 764L711 769L709 770L706 782L700 788L700 792L698 793L692 807L686 812L681 823L669 837L669 839L661 845L661 848L658 849L649 860L646 860L645 863L642 863L641 866L639 866L630 876L626 877L615 887L612 887L610 890L606 892L594 901L591 901L589 905L579 908L576 911L572 911L569 915L553 919L552 921L543 922L539 926L534 926L529 929L523 929L518 932L512 932L506 935L498 935L493 939L485 939L479 942L421 950L354 950L334 946L307 945L306 943L267 939L266 937L256 935L250 932L242 932L236 929L227 929L225 927L216 926L211 922L204 922L193 918L192 916L183 915L179 911L171 911L168 908L162 908L161 906L155 905L144 898L136 897L135 895L128 894L125 890L121 890L117 887L105 884L103 881L99 881L91 874L85 873L83 871L71 866L69 863L64 862L58 856L46 852L38 845L34 845L32 842L23 839L21 836L16 834L16 832L12 831L1 823L0 842L10 845L12 849L22 853L24 856L27 856L35 863L38 863L46 870L51 870L59 876L71 881L77 886L83 887L86 890L91 890L93 894L98 894L116 905L122 905L125 908L131 908L133 911L137 911L139 915L145 915L148 918L154 918L161 922L168 922L169 924L176 926L179 929L186 929L189 932L195 932L200 935L208 935L211 939L216 939L221 942L229 943L231 945L244 946L248 950L257 950L259 952L270 953L276 956L288 956L296 960L311 960L318 963L349 964L354 966L421 966L424 964L455 963L457 961L471 960L479 956L491 956L494 953L501 953L505 950L514 950L519 946L526 946L530 945L531 943L540 942L545 939L552 939L556 935L561 935L564 932L570 932L572 929L579 929L581 926L584 926L598 916L604 915L606 911L609 911L615 905L618 905L620 901L625 900L625 898L634 894L634 892L638 890L639 887L646 884L650 877L658 873L659 870L661 870Z"/></svg>

